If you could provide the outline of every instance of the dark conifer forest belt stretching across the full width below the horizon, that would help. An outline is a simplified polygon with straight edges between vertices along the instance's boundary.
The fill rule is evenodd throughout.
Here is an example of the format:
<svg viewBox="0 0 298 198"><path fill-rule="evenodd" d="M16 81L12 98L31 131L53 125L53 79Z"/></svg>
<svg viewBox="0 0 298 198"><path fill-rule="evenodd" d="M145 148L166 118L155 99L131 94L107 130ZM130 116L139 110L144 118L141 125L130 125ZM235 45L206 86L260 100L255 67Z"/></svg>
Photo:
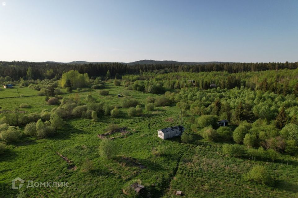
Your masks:
<svg viewBox="0 0 298 198"><path fill-rule="evenodd" d="M147 61L145 61L147 62ZM148 60L148 63L151 61ZM127 63L57 63L57 62L6 62L0 61L0 77L10 76L17 80L23 79L60 79L63 72L77 70L80 73L88 73L90 77L105 76L107 71L114 78L116 75L140 74L142 72L154 72L158 74L169 72L210 72L227 71L228 73L239 73L246 71L265 71L279 69L296 69L298 62L269 62L269 63L236 63L236 62L208 62L208 64L186 65L183 63L168 62L168 64L134 64Z"/></svg>

